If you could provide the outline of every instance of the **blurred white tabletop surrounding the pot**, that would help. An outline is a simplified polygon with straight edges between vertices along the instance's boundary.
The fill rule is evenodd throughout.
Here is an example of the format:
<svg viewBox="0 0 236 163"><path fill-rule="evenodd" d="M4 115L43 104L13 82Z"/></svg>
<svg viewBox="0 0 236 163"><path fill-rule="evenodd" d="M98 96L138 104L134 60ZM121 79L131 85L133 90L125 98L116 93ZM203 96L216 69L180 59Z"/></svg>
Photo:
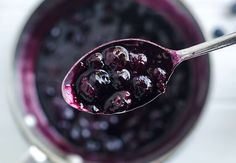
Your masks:
<svg viewBox="0 0 236 163"><path fill-rule="evenodd" d="M0 163L16 163L27 145L16 128L5 98L6 78L16 36L27 15L41 0L0 1ZM206 36L220 26L236 31L236 16L228 8L234 0L183 0ZM236 46L211 54L212 81L205 112L194 132L168 163L236 162ZM4 74L4 75L2 75Z"/></svg>

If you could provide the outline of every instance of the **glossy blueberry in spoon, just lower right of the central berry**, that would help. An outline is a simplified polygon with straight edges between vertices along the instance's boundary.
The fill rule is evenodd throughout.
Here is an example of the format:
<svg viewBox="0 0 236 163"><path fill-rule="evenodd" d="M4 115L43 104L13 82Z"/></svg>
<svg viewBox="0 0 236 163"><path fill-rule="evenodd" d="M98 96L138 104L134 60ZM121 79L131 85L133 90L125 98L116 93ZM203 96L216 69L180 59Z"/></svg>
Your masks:
<svg viewBox="0 0 236 163"><path fill-rule="evenodd" d="M132 84L133 94L138 100L152 92L152 81L147 76L134 77Z"/></svg>

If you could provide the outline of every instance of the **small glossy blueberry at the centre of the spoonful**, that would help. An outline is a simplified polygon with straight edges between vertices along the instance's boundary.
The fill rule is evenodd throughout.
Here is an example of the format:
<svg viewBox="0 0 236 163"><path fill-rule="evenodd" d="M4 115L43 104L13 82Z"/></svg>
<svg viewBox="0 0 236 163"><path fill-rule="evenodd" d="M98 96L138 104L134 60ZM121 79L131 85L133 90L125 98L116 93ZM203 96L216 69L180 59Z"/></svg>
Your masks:
<svg viewBox="0 0 236 163"><path fill-rule="evenodd" d="M130 72L126 69L122 69L121 71L116 71L112 76L112 86L119 90L128 85L128 81L130 80Z"/></svg>

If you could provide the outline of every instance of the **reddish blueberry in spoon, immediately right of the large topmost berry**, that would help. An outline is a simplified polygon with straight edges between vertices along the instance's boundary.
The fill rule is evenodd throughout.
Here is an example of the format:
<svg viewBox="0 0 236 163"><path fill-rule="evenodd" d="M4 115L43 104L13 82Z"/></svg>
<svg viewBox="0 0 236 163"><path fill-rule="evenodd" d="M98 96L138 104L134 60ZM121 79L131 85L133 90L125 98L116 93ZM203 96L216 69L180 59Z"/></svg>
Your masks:
<svg viewBox="0 0 236 163"><path fill-rule="evenodd" d="M142 72L147 65L147 56L144 54L130 53L130 65L134 71Z"/></svg>

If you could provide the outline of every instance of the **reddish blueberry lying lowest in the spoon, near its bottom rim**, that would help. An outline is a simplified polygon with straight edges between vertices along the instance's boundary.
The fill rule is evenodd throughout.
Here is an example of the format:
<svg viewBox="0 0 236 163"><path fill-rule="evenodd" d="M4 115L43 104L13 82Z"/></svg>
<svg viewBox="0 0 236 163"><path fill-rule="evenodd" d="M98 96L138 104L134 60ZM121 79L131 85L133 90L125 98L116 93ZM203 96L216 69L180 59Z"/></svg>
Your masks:
<svg viewBox="0 0 236 163"><path fill-rule="evenodd" d="M131 105L131 97L128 91L114 93L104 105L105 112L125 111Z"/></svg>

